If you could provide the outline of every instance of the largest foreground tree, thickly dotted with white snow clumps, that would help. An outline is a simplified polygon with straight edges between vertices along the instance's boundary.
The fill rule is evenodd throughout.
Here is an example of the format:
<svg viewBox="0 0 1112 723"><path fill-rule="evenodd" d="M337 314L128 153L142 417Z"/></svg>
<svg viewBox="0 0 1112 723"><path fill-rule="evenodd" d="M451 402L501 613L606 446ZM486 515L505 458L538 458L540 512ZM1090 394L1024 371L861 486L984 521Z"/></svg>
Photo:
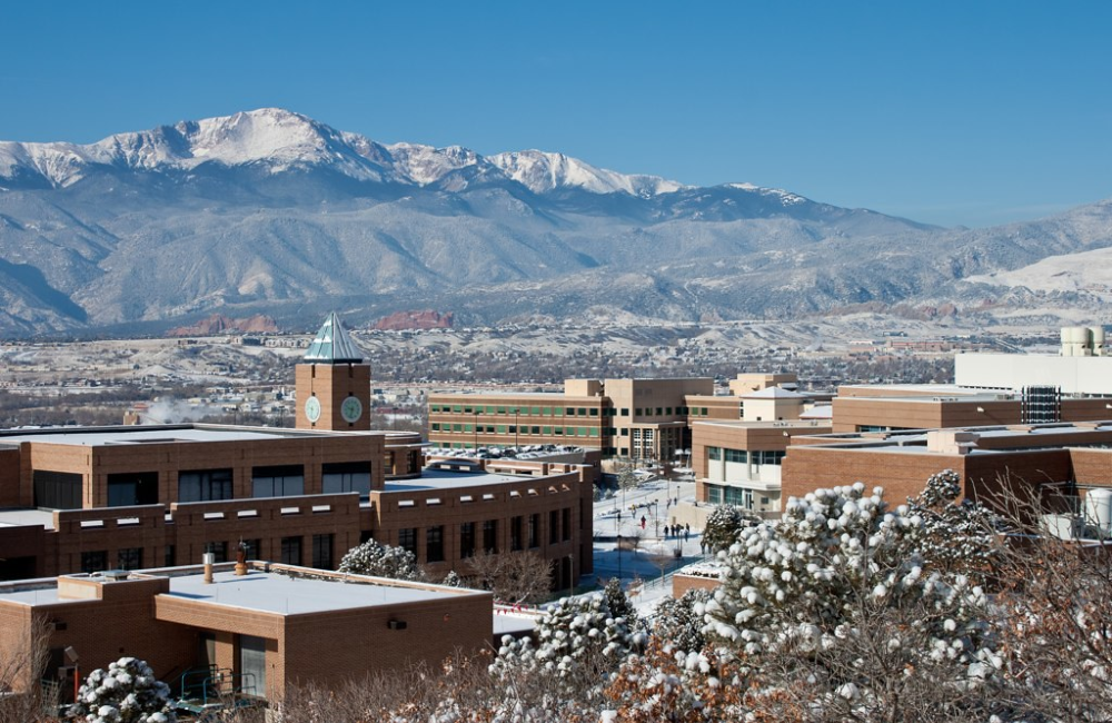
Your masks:
<svg viewBox="0 0 1112 723"><path fill-rule="evenodd" d="M931 701L934 720L986 719L1001 658L985 596L963 575L926 570L922 537L922 518L888 508L880 488L793 498L724 555L705 633L778 691L770 714L904 720Z"/></svg>

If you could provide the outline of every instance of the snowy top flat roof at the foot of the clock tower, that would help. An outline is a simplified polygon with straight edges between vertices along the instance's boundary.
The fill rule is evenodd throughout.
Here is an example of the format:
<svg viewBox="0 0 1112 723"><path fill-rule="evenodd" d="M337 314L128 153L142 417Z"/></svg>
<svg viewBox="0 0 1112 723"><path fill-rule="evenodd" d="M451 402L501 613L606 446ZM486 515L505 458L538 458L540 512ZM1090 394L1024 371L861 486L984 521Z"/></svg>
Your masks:
<svg viewBox="0 0 1112 723"><path fill-rule="evenodd" d="M0 443L39 442L49 444L102 447L132 444L176 444L183 442L246 442L291 439L336 434L375 434L369 432L316 432L278 427L234 427L221 425L165 425L136 427L59 427L39 432L2 430Z"/></svg>

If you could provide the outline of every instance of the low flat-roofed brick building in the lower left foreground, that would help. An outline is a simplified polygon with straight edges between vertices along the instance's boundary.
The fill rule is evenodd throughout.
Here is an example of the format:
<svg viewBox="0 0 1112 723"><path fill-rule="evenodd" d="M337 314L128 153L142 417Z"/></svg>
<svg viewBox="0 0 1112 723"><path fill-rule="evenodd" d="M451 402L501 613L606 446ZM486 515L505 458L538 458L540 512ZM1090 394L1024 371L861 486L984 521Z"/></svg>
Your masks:
<svg viewBox="0 0 1112 723"><path fill-rule="evenodd" d="M338 687L409 663L439 664L493 638L490 594L251 563L0 583L0 655L44 627L46 676L72 700L78 677L146 660L203 703L235 691L280 699L288 684ZM69 648L69 660L63 651ZM72 663L78 663L75 670ZM26 690L32 681L17 681ZM192 685L190 685L192 683Z"/></svg>

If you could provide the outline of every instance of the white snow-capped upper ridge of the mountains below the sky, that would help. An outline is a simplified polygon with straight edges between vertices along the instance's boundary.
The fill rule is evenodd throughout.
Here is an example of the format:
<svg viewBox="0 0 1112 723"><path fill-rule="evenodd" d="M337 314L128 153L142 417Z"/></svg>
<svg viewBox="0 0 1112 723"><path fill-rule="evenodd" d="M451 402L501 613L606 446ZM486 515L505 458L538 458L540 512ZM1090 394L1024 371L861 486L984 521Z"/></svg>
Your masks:
<svg viewBox="0 0 1112 723"><path fill-rule="evenodd" d="M203 164L265 167L271 174L327 167L358 181L428 186L461 169L505 177L534 194L578 188L594 194L654 196L683 188L655 176L626 176L563 153L522 151L489 158L467 148L384 146L337 131L300 113L262 108L118 133L88 146L0 142L0 179L41 179L54 187L81 180L92 166L145 171L191 170ZM466 184L454 184L459 190Z"/></svg>

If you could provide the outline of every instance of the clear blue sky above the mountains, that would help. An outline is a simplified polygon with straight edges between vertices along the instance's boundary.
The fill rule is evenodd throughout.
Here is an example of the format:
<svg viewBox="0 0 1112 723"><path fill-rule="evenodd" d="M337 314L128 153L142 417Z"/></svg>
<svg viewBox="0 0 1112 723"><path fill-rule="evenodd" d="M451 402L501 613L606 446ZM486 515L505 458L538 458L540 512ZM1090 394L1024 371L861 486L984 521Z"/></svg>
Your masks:
<svg viewBox="0 0 1112 723"><path fill-rule="evenodd" d="M1112 197L1112 2L0 3L0 139L278 106L940 225Z"/></svg>

